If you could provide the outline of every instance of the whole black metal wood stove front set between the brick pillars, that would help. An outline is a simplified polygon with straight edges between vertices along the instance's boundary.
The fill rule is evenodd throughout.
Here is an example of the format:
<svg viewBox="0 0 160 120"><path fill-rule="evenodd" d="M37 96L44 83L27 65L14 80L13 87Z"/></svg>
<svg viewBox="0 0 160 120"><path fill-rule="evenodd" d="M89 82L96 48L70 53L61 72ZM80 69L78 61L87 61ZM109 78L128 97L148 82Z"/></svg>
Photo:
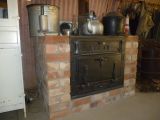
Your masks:
<svg viewBox="0 0 160 120"><path fill-rule="evenodd" d="M123 36L71 36L71 97L123 87Z"/></svg>

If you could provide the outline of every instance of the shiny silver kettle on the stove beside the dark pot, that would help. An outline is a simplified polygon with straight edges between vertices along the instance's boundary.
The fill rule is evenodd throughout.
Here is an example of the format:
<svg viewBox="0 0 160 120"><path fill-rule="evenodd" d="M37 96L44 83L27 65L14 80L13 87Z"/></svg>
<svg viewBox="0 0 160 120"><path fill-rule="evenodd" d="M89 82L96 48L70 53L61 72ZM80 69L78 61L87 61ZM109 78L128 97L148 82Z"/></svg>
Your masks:
<svg viewBox="0 0 160 120"><path fill-rule="evenodd" d="M83 24L83 34L84 35L102 35L103 34L103 24L97 20L94 11L90 11L86 23Z"/></svg>

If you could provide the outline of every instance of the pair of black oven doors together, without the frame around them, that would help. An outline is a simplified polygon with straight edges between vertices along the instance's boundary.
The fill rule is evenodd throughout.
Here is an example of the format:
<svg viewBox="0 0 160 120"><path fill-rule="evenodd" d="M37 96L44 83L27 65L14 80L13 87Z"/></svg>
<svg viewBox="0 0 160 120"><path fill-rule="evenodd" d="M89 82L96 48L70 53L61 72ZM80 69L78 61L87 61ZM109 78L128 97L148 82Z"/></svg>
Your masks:
<svg viewBox="0 0 160 120"><path fill-rule="evenodd" d="M75 84L116 82L123 76L120 54L78 56L73 66ZM72 74L73 75L73 74Z"/></svg>

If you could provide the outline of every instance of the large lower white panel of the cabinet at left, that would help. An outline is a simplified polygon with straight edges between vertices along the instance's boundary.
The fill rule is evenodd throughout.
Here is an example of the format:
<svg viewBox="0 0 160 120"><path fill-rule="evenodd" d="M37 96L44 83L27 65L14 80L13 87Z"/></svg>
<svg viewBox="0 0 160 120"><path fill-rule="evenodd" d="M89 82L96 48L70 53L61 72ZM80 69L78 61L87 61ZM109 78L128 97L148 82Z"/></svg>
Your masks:
<svg viewBox="0 0 160 120"><path fill-rule="evenodd" d="M0 109L24 103L19 49L0 49ZM1 110L0 110L1 111Z"/></svg>

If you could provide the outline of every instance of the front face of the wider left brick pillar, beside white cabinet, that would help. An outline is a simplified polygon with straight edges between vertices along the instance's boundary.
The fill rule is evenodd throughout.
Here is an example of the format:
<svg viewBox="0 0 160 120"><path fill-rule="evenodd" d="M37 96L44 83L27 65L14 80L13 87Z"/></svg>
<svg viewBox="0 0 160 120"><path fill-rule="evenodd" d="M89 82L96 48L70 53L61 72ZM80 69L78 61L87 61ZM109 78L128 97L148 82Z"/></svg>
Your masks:
<svg viewBox="0 0 160 120"><path fill-rule="evenodd" d="M44 44L50 120L55 120L68 114L71 101L69 38L46 36Z"/></svg>

